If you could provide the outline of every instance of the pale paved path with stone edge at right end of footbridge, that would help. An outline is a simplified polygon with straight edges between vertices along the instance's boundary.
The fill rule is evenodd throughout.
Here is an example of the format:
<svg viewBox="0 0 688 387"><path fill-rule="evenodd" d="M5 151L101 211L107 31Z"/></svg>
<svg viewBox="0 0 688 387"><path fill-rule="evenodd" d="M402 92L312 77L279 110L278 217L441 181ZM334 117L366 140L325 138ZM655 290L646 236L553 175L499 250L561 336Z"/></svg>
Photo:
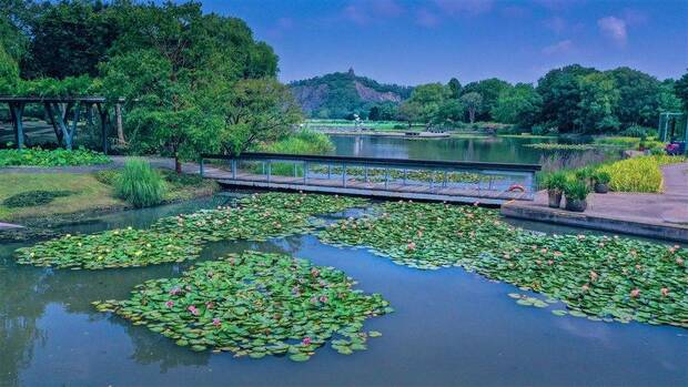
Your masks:
<svg viewBox="0 0 688 387"><path fill-rule="evenodd" d="M688 163L662 167L661 194L590 194L585 213L547 206L547 192L529 203L507 203L502 213L509 217L664 237L688 242Z"/></svg>

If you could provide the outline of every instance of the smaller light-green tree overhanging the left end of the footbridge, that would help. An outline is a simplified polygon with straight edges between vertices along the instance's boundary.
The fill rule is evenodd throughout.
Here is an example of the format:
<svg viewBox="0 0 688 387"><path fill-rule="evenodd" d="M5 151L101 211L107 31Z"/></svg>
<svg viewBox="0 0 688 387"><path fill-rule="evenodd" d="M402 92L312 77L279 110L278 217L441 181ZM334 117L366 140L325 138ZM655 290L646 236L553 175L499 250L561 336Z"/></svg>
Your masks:
<svg viewBox="0 0 688 387"><path fill-rule="evenodd" d="M215 112L222 118L223 126L217 140L229 154L275 141L302 120L301 109L289 88L275 79L241 80L205 98L206 104L216 105L220 101Z"/></svg>

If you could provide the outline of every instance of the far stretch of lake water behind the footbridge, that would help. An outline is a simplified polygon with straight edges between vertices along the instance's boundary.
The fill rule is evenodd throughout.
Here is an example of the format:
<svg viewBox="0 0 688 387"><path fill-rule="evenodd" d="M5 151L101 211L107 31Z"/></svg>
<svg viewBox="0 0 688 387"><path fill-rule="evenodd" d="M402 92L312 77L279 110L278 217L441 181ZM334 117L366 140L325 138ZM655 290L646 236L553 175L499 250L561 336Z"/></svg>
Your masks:
<svg viewBox="0 0 688 387"><path fill-rule="evenodd" d="M618 152L552 152L527 144L557 142L554 138L475 136L445 139L404 139L380 135L331 135L336 155L361 157L482 161L494 163L547 163L550 157L606 159ZM576 160L575 163L585 162Z"/></svg>

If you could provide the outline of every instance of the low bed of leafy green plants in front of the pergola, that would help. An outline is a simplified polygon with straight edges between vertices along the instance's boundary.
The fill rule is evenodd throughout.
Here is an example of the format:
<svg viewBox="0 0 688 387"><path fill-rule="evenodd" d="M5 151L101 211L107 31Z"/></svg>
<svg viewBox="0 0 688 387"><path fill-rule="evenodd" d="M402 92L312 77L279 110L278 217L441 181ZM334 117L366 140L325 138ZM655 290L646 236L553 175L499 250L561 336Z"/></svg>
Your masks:
<svg viewBox="0 0 688 387"><path fill-rule="evenodd" d="M23 150L0 150L1 166L69 166L107 164L107 155L84 147L68 151L63 149L43 150L40 147Z"/></svg>

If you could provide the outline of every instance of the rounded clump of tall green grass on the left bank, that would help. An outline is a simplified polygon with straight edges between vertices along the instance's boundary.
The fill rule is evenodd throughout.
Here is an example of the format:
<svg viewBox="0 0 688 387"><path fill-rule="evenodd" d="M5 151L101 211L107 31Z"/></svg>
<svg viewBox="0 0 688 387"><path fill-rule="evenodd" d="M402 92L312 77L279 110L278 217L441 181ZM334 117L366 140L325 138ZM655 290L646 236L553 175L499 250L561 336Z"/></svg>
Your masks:
<svg viewBox="0 0 688 387"><path fill-rule="evenodd" d="M166 191L160 174L139 159L127 161L114 181L114 189L119 197L138 208L160 204Z"/></svg>

